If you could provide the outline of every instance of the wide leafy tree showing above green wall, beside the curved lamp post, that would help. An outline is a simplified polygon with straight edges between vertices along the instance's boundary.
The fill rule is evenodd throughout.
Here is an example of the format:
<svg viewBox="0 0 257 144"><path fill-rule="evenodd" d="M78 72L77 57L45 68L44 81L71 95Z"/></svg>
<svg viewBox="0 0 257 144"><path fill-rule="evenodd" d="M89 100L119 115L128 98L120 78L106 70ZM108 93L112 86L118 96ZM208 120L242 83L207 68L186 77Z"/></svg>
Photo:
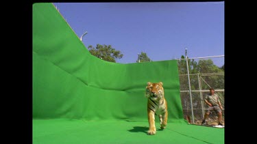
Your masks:
<svg viewBox="0 0 257 144"><path fill-rule="evenodd" d="M111 45L107 46L106 44L103 44L103 46L101 44L97 44L95 48L90 45L88 46L88 51L91 53L91 55L95 55L95 57L98 57L99 59L114 63L116 63L115 59L121 59L123 57L121 51L117 51L112 48Z"/></svg>

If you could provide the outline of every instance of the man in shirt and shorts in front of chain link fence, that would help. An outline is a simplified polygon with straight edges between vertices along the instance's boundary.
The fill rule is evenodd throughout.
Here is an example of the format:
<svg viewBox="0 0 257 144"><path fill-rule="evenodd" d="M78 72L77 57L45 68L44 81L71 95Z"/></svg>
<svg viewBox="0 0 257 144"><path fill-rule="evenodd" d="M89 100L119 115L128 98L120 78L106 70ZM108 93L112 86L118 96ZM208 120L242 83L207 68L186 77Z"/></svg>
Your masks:
<svg viewBox="0 0 257 144"><path fill-rule="evenodd" d="M210 93L208 93L208 95L204 99L204 102L206 102L206 104L208 104L208 109L204 115L204 120L201 122L201 124L202 125L206 124L206 119L210 115L210 111L215 111L218 114L218 121L219 121L218 125L223 126L223 124L221 124L221 120L222 120L221 110L223 109L223 107L221 106L219 97L215 93L214 89L210 88Z"/></svg>

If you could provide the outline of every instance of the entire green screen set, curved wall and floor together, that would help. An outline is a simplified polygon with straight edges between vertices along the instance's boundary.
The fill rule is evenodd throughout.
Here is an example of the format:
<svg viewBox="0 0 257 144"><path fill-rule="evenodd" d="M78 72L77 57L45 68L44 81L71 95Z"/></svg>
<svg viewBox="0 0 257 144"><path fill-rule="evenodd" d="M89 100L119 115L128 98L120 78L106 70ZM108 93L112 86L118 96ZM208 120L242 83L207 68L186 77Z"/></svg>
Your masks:
<svg viewBox="0 0 257 144"><path fill-rule="evenodd" d="M32 18L34 143L158 141L146 134L145 87L147 82L160 81L169 119L167 129L160 131L164 133L156 135L177 135L166 142L186 141L184 134L171 127L187 126L177 61L103 61L88 52L52 3L34 3ZM158 122L156 119L156 128L160 127ZM101 138L94 139L99 134ZM123 135L115 139L119 134ZM199 143L197 139L191 142Z"/></svg>

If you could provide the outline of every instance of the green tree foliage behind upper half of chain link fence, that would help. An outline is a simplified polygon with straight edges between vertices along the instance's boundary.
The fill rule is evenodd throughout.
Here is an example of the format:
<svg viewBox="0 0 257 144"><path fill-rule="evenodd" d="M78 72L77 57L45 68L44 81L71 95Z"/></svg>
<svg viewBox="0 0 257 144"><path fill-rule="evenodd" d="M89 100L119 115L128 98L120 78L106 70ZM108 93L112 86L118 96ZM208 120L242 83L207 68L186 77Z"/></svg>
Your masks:
<svg viewBox="0 0 257 144"><path fill-rule="evenodd" d="M180 78L180 83L188 85L188 78L186 69L186 59L182 55L181 60L178 61L178 70L180 75L184 75ZM200 59L198 62L194 59L188 59L188 71L190 74L191 90L199 89L199 83L201 89L209 89L214 87L215 89L224 88L224 66L219 68L216 66L212 59Z"/></svg>

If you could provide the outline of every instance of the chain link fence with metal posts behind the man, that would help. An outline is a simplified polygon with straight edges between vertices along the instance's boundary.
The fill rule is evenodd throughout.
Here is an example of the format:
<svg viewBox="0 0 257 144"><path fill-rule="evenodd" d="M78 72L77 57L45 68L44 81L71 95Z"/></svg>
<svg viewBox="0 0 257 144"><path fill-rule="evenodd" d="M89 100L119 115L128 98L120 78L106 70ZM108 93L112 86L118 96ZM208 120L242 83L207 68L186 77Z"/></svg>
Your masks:
<svg viewBox="0 0 257 144"><path fill-rule="evenodd" d="M223 106L222 123L225 124L224 58L225 56L222 55L177 59L184 119L187 119L191 124L200 125L204 119L208 107L204 98L210 92L210 87L214 88L215 93L219 96ZM210 113L207 121L208 124L218 124L215 111Z"/></svg>

